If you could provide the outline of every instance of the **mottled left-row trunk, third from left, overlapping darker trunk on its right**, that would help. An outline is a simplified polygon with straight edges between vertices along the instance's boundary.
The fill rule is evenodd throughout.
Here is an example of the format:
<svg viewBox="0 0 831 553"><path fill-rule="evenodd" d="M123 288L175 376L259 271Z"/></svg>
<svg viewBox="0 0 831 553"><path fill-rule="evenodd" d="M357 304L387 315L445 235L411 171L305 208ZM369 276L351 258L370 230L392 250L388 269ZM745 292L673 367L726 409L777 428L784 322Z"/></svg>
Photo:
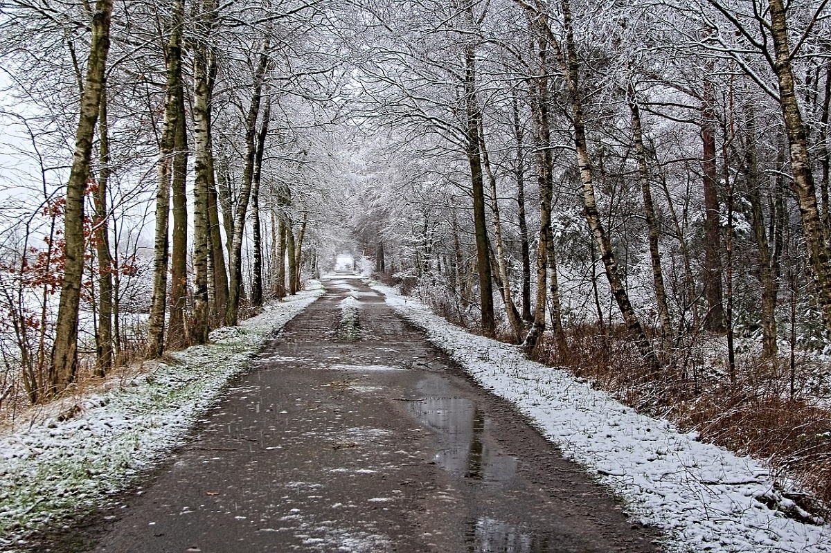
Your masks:
<svg viewBox="0 0 831 553"><path fill-rule="evenodd" d="M170 212L170 184L174 178L174 158L182 98L182 21L184 1L173 2L170 39L165 49L167 91L165 94L165 123L162 129L155 208L155 243L153 251L153 295L150 301L150 319L147 323L147 356L155 359L165 349L165 299L167 296L168 217Z"/></svg>

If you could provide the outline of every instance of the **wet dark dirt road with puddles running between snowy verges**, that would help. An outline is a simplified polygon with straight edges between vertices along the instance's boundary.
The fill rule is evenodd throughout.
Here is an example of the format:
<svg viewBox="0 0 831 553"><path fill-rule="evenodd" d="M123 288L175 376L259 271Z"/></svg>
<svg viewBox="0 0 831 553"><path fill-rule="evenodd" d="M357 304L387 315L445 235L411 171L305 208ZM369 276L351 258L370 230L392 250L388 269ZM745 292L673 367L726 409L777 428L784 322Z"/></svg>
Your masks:
<svg viewBox="0 0 831 553"><path fill-rule="evenodd" d="M656 551L382 296L325 284L93 551Z"/></svg>

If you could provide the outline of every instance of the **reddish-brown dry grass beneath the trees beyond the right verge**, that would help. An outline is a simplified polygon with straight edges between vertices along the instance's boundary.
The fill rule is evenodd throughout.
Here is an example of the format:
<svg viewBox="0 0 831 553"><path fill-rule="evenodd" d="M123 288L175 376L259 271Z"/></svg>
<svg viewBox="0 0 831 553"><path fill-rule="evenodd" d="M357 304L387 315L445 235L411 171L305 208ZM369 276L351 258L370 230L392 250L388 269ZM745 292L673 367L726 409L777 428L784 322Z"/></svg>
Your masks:
<svg viewBox="0 0 831 553"><path fill-rule="evenodd" d="M817 374L827 367L803 358L791 374L787 360L771 362L750 353L738 357L731 383L720 364L717 336L666 355L657 378L638 362L625 330L603 335L595 326L569 330L568 348L548 339L537 359L568 367L623 403L668 418L702 441L770 462L780 479L810 493L790 494L800 507L827 518L831 506L831 402ZM794 384L794 394L790 393ZM812 497L813 496L813 497Z"/></svg>

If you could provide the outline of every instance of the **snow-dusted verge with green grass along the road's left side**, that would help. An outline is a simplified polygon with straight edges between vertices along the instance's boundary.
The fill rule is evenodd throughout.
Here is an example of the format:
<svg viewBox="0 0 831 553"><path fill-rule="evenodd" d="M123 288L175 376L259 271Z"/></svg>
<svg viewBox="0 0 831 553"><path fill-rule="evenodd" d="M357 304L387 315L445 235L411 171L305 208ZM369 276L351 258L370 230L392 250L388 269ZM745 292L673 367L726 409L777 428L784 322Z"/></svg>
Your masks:
<svg viewBox="0 0 831 553"><path fill-rule="evenodd" d="M0 438L0 549L26 546L37 528L60 530L67 516L101 505L162 461L263 343L323 291L310 286L238 327L214 330L209 345L81 396L68 420L56 412Z"/></svg>

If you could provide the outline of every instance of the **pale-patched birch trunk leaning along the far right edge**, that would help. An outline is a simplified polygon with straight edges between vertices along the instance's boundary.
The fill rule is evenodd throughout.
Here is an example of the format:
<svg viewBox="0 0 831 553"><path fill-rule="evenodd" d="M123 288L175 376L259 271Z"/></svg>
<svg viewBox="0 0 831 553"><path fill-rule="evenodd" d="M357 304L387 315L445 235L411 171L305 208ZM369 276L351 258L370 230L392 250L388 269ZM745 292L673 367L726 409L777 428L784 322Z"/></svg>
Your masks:
<svg viewBox="0 0 831 553"><path fill-rule="evenodd" d="M814 276L817 300L823 313L825 329L831 334L831 252L828 236L819 215L814 174L799 102L794 91L794 73L791 66L788 27L784 0L770 0L770 32L775 50L774 72L779 81L779 104L782 108L785 135L790 146L790 164L794 174L791 186L799 202L799 214L808 263Z"/></svg>

